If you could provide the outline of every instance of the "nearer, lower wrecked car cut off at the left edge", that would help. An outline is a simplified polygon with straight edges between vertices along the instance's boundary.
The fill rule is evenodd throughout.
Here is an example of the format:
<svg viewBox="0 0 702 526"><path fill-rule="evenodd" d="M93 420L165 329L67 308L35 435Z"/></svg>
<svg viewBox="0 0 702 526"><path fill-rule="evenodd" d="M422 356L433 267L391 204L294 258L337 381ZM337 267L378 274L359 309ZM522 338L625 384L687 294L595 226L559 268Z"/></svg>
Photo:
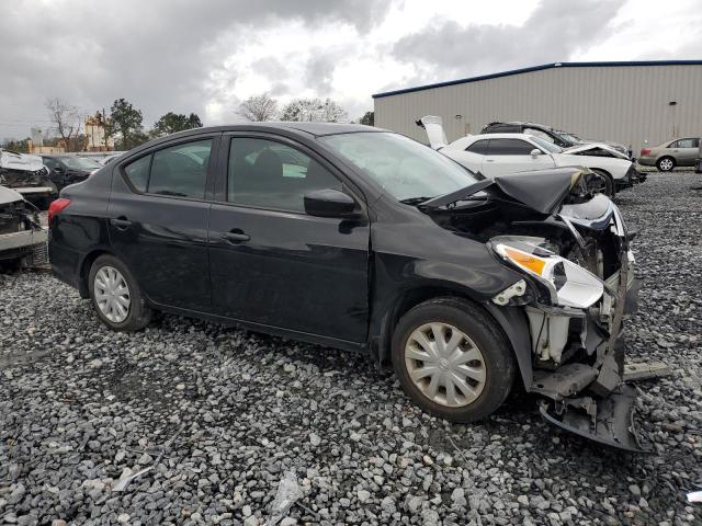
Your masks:
<svg viewBox="0 0 702 526"><path fill-rule="evenodd" d="M19 192L0 186L0 264L27 266L46 256L47 230L33 205Z"/></svg>

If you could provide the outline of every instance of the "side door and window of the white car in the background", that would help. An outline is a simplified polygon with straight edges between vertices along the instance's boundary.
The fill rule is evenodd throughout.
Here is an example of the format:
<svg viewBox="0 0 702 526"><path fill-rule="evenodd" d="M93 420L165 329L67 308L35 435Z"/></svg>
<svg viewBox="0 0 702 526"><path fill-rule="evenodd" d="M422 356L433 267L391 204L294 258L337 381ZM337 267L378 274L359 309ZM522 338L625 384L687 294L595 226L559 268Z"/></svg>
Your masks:
<svg viewBox="0 0 702 526"><path fill-rule="evenodd" d="M555 167L548 153L542 151L541 155L532 157L531 151L534 149L539 148L523 139L491 138L487 155L483 159L483 175L499 178L509 173Z"/></svg>

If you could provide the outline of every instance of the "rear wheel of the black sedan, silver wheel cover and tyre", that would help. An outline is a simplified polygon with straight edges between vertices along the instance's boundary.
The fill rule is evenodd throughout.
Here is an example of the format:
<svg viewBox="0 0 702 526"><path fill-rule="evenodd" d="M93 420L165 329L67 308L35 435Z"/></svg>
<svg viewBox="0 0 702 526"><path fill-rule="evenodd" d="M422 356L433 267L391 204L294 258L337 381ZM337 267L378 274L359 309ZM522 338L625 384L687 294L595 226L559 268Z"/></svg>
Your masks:
<svg viewBox="0 0 702 526"><path fill-rule="evenodd" d="M151 318L136 279L118 259L101 255L88 277L90 298L100 320L114 331L138 331Z"/></svg>

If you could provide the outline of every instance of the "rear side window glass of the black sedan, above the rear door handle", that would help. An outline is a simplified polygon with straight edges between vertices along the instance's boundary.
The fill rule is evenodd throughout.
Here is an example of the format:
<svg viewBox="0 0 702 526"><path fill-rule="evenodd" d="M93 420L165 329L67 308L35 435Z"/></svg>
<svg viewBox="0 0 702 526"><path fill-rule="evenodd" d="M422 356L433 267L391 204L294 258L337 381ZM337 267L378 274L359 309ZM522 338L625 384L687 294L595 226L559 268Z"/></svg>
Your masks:
<svg viewBox="0 0 702 526"><path fill-rule="evenodd" d="M212 139L155 151L127 164L124 173L139 192L203 199Z"/></svg>

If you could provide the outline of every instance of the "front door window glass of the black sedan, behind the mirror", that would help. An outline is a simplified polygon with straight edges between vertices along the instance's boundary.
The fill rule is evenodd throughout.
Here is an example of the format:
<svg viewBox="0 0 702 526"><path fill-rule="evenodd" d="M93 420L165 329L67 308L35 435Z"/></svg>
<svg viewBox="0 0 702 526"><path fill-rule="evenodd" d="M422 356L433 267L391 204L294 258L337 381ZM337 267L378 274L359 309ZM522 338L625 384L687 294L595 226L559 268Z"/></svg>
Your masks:
<svg viewBox="0 0 702 526"><path fill-rule="evenodd" d="M305 211L305 195L342 190L319 162L292 146L268 139L235 137L229 145L227 201L237 205Z"/></svg>

